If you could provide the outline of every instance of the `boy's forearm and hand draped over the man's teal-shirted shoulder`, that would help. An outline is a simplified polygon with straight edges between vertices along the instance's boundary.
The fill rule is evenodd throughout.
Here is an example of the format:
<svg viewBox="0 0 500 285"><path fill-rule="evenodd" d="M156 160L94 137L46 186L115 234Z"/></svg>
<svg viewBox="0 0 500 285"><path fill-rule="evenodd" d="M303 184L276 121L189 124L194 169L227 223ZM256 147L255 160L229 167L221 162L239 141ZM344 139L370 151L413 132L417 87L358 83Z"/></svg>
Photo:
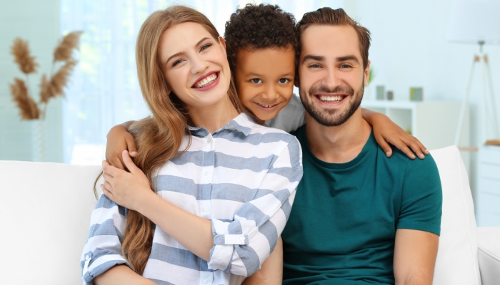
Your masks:
<svg viewBox="0 0 500 285"><path fill-rule="evenodd" d="M406 133L386 115L361 108L361 116L374 128L375 140L379 143L380 147L382 147L387 157L392 155L392 149L389 143L399 148L399 150L408 155L412 160L415 158L413 152L415 152L420 159L424 159L424 154L429 155L429 151L419 140L413 135ZM409 147L411 147L413 152Z"/></svg>

